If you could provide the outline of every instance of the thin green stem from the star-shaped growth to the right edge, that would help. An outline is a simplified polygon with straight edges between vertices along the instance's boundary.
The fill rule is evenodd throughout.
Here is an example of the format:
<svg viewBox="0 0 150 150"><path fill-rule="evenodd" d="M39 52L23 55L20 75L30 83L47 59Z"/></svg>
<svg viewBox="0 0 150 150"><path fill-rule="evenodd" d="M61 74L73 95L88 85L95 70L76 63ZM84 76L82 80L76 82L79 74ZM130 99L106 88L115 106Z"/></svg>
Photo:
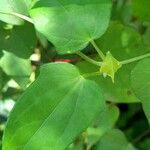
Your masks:
<svg viewBox="0 0 150 150"><path fill-rule="evenodd" d="M125 64L129 64L129 63L141 60L141 59L146 58L146 57L150 57L150 53L149 54L145 54L145 55L141 55L141 56L137 56L137 57L134 57L134 58L131 58L131 59L123 60L120 63L122 65L125 65Z"/></svg>

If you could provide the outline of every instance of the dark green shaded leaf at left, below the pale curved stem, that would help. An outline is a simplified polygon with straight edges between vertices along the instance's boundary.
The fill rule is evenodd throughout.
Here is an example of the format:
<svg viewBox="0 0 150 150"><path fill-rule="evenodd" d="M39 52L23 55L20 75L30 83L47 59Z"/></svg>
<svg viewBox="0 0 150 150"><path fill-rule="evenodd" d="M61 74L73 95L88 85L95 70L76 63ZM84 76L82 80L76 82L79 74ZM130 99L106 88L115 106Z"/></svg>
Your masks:
<svg viewBox="0 0 150 150"><path fill-rule="evenodd" d="M34 27L29 23L12 29L4 27L0 28L0 56L5 50L21 58L29 58L37 43Z"/></svg>

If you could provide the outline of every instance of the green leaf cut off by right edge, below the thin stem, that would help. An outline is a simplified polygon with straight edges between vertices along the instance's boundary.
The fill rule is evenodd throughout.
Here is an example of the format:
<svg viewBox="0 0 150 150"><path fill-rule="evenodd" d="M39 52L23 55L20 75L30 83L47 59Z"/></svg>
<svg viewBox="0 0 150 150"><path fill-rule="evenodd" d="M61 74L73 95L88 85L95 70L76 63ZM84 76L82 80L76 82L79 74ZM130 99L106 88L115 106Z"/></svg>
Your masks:
<svg viewBox="0 0 150 150"><path fill-rule="evenodd" d="M140 61L131 73L132 87L150 123L150 59Z"/></svg>

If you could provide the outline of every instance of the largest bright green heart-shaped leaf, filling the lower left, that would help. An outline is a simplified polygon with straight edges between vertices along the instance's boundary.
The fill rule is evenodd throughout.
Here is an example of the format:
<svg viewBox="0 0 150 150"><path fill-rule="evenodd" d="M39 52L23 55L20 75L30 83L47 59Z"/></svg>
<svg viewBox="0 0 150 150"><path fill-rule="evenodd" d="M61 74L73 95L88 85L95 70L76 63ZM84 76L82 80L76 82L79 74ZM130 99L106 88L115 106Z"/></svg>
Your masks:
<svg viewBox="0 0 150 150"><path fill-rule="evenodd" d="M3 150L63 150L103 107L101 89L75 66L44 65L10 115Z"/></svg>

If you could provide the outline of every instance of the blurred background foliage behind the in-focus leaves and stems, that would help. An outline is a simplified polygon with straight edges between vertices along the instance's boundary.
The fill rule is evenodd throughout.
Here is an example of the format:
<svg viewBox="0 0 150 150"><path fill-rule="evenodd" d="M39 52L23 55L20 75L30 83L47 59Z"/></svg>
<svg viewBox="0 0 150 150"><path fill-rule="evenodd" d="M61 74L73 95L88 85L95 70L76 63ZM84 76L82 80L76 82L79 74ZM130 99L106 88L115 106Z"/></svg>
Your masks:
<svg viewBox="0 0 150 150"><path fill-rule="evenodd" d="M118 60L150 52L149 8L149 0L113 0L109 28L96 40L99 47L104 52L111 51ZM83 52L97 59L91 45ZM75 64L82 73L98 69L75 54L59 55L29 23L12 26L0 22L0 145L18 97L36 79L42 64L58 61ZM107 109L68 150L150 150L148 121L130 85L135 64L123 66L114 84L109 78L91 78L101 85Z"/></svg>

